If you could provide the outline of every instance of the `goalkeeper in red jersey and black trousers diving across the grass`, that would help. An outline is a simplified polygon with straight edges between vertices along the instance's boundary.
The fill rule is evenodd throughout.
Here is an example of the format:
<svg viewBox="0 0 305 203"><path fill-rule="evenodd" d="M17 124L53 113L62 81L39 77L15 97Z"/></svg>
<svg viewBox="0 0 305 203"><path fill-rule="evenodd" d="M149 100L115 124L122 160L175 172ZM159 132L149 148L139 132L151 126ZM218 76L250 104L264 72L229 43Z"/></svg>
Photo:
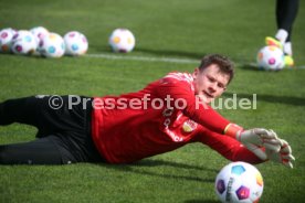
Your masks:
<svg viewBox="0 0 305 203"><path fill-rule="evenodd" d="M272 160L292 168L291 147L273 130L242 129L208 105L233 74L228 57L212 54L193 73L169 73L136 93L6 100L0 125L31 125L38 133L29 142L0 146L0 163L130 163L202 142L231 161Z"/></svg>

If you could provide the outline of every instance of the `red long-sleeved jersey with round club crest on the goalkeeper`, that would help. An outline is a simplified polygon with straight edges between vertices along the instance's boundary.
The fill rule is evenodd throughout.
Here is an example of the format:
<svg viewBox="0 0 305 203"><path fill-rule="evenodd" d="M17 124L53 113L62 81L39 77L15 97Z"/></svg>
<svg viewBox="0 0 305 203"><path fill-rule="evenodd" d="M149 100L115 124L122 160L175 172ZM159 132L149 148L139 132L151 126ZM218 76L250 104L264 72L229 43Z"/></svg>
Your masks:
<svg viewBox="0 0 305 203"><path fill-rule="evenodd" d="M194 96L188 73L170 73L144 89L94 98L92 137L109 163L128 163L200 141L230 160L260 162L233 138L230 122Z"/></svg>

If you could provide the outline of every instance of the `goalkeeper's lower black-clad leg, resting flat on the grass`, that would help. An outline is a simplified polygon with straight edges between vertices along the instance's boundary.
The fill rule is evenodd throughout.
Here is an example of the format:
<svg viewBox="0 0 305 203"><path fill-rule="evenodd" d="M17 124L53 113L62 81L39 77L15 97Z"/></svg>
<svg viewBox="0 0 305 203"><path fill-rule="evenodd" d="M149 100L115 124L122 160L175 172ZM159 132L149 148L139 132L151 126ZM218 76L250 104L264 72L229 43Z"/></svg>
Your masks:
<svg viewBox="0 0 305 203"><path fill-rule="evenodd" d="M0 164L77 162L105 162L90 136L50 135L29 142L0 146Z"/></svg>

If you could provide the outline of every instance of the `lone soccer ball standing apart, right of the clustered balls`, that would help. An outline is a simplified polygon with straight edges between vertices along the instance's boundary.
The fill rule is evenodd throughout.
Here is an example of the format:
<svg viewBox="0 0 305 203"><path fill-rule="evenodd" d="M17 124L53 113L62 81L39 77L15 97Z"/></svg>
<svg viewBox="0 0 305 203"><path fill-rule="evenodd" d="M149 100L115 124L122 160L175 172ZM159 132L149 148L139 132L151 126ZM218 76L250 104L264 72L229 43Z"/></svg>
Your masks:
<svg viewBox="0 0 305 203"><path fill-rule="evenodd" d="M109 45L114 52L132 52L136 40L134 34L127 29L116 29L109 36Z"/></svg>

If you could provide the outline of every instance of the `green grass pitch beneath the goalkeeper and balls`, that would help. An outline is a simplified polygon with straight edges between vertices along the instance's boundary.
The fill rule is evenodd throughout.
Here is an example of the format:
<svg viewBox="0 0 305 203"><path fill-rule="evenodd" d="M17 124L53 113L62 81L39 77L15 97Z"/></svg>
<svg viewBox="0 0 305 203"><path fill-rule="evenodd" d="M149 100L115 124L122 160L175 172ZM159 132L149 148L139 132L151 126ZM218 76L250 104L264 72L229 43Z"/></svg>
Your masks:
<svg viewBox="0 0 305 203"><path fill-rule="evenodd" d="M36 94L102 96L138 90L170 71L191 72L204 54L222 53L236 63L224 97L257 94L255 110L220 110L245 128L265 127L288 140L296 161L256 165L264 178L261 202L303 202L305 197L305 7L294 24L298 68L277 73L252 67L266 35L274 35L275 0L2 0L0 29L43 25L88 39L83 57L46 60L0 55L0 101ZM116 28L130 29L134 52L114 54L107 45ZM91 57L119 56L122 58ZM157 58L144 61L137 58ZM189 60L194 63L161 61ZM34 139L35 129L0 127L0 143ZM179 150L134 164L0 165L0 202L218 202L214 178L229 163L206 146Z"/></svg>

